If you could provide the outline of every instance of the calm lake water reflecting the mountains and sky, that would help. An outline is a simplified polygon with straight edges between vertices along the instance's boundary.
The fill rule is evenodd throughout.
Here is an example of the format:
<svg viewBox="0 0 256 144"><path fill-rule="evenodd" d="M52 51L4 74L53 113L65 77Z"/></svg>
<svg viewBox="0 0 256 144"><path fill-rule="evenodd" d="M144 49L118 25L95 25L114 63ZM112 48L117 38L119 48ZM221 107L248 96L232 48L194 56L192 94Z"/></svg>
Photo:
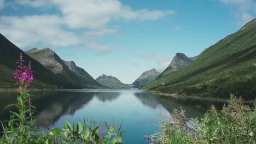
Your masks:
<svg viewBox="0 0 256 144"><path fill-rule="evenodd" d="M134 89L79 89L65 91L34 91L32 101L37 107L38 123L42 129L47 125L62 128L63 121L80 122L83 117L93 118L107 133L104 121L119 124L126 116L122 130L126 143L148 143L144 135L158 130L157 124L171 118L173 110L183 107L188 117L202 117L211 104L221 107L222 103L191 99L175 99ZM8 119L9 112L4 107L14 103L16 93L0 92L0 119ZM48 124L46 124L46 122Z"/></svg>

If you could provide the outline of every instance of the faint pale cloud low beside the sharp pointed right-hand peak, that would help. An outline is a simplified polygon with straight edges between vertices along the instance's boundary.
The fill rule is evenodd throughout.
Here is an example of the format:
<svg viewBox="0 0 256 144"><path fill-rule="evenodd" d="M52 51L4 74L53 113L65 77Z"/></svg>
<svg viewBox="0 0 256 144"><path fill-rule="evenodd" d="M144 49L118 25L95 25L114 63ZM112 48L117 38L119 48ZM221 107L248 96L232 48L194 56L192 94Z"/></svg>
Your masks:
<svg viewBox="0 0 256 144"><path fill-rule="evenodd" d="M168 65L171 63L170 57L159 56L156 54L151 54L151 55L141 54L139 56L142 58L147 58L151 61L155 61L159 65L159 67L156 68L158 71L164 71L168 67Z"/></svg>

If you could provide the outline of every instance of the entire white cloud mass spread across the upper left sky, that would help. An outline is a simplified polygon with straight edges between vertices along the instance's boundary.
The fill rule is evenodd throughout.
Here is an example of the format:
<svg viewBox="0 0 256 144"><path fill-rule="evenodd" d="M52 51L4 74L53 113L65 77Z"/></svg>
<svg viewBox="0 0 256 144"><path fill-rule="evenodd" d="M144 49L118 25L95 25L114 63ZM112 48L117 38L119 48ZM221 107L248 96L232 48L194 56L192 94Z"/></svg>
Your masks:
<svg viewBox="0 0 256 144"><path fill-rule="evenodd" d="M1 2L4 1L0 0L0 8ZM118 0L15 0L14 2L27 7L43 9L51 7L60 11L60 15L0 16L1 33L21 49L34 47L37 43L54 47L85 46L87 49L97 51L97 55L118 49L97 42L90 43L89 40L95 41L104 35L117 33L123 21L154 21L175 13L174 10L133 10ZM73 30L80 30L82 34Z"/></svg>

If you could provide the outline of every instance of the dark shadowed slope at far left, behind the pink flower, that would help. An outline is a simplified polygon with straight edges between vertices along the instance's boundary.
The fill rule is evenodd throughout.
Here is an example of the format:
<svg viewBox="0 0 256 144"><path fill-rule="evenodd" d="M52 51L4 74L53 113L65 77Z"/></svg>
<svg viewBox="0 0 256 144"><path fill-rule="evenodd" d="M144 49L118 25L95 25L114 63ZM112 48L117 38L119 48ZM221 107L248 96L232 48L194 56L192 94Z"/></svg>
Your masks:
<svg viewBox="0 0 256 144"><path fill-rule="evenodd" d="M28 56L19 47L11 43L7 38L0 34L0 87L9 89L16 87L13 78L16 62L20 53L24 57L25 62L31 61L31 67L34 75L34 82L31 88L34 89L51 89L51 88L82 88L83 86L74 81L65 79L60 74L55 74L43 67L32 57Z"/></svg>

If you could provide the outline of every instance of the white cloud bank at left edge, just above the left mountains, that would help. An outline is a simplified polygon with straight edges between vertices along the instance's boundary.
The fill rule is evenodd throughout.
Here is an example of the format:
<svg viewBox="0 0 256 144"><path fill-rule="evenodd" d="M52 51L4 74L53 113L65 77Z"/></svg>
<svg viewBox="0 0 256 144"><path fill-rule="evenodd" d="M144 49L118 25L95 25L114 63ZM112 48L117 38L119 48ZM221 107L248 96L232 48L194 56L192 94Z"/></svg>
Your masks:
<svg viewBox="0 0 256 144"><path fill-rule="evenodd" d="M17 46L24 48L36 43L69 46L79 43L78 36L61 29L57 16L1 16L0 31Z"/></svg>

